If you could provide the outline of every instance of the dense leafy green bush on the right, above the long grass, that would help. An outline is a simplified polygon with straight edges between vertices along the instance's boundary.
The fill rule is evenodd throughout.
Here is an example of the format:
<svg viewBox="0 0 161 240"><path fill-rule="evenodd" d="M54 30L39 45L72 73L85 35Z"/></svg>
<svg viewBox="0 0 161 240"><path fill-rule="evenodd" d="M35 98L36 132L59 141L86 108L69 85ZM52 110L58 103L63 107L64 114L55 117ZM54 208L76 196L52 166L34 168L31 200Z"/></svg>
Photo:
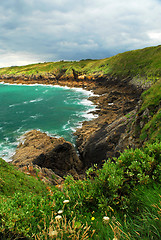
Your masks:
<svg viewBox="0 0 161 240"><path fill-rule="evenodd" d="M127 149L120 157L108 159L102 169L88 170L87 179L75 181L68 176L65 190L77 207L102 211L110 207L127 208L128 195L138 185L161 182L161 143L141 149ZM94 177L91 177L94 176ZM83 210L82 210L83 211Z"/></svg>

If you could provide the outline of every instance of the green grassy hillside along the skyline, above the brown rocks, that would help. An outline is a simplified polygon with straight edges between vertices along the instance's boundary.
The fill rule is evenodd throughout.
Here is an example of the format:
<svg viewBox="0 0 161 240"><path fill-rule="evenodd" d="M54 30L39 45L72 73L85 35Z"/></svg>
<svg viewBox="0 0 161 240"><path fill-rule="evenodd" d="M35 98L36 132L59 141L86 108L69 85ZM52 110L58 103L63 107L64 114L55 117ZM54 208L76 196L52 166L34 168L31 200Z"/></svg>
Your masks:
<svg viewBox="0 0 161 240"><path fill-rule="evenodd" d="M155 80L161 76L161 46L133 50L101 60L60 61L1 68L0 75L45 75L60 71L69 75L72 69L79 74L107 74Z"/></svg>

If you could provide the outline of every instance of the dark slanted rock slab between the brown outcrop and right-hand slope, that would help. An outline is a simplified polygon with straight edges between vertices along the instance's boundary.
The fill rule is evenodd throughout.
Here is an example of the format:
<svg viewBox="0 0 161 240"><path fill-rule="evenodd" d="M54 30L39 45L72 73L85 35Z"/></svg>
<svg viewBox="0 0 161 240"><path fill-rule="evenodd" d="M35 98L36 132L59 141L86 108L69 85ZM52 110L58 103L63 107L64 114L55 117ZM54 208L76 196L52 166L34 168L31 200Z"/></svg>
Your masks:
<svg viewBox="0 0 161 240"><path fill-rule="evenodd" d="M125 132L127 118L122 117L111 124L106 124L94 132L86 144L79 148L85 167L93 164L102 165L109 157L117 156L119 149L116 147L120 136Z"/></svg>

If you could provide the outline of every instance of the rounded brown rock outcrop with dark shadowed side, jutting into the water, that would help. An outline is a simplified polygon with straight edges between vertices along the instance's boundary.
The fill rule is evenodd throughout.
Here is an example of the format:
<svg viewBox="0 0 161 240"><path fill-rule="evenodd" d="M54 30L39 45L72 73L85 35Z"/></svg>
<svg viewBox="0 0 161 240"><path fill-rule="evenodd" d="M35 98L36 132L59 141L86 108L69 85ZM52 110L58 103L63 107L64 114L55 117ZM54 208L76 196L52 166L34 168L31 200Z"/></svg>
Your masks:
<svg viewBox="0 0 161 240"><path fill-rule="evenodd" d="M42 169L51 169L61 177L69 173L76 176L82 168L70 142L64 138L50 137L37 130L23 136L23 142L17 147L12 164L21 169L36 165Z"/></svg>

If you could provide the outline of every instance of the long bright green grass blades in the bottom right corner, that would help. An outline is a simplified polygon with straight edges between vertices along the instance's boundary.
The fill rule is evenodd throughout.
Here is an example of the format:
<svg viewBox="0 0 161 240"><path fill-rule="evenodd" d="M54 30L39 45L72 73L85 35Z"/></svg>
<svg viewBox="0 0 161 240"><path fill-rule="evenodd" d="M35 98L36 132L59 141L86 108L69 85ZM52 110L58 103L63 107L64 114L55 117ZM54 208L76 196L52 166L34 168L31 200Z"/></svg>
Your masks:
<svg viewBox="0 0 161 240"><path fill-rule="evenodd" d="M131 239L161 239L160 184L139 186L130 197L133 205L127 214L126 231Z"/></svg>

